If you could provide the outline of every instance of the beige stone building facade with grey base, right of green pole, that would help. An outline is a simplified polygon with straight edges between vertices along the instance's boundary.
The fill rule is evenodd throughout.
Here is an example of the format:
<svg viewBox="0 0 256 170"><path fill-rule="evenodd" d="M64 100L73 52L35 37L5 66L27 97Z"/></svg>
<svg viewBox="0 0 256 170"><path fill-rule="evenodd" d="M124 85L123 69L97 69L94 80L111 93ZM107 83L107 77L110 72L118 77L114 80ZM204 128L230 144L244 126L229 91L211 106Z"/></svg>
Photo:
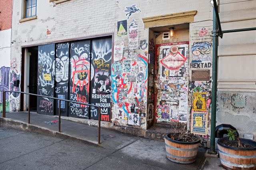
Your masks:
<svg viewBox="0 0 256 170"><path fill-rule="evenodd" d="M222 30L256 26L256 1L220 1ZM216 125L226 123L256 140L256 31L224 33L218 45ZM252 135L254 137L252 137ZM246 135L245 135L246 136Z"/></svg>

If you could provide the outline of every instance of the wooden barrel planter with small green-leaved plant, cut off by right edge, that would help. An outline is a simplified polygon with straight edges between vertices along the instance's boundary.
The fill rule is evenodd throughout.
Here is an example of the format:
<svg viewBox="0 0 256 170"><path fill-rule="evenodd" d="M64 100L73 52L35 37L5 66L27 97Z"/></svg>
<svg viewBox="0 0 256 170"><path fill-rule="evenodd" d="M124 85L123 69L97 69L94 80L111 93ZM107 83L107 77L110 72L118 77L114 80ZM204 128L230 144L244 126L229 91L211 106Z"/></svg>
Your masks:
<svg viewBox="0 0 256 170"><path fill-rule="evenodd" d="M232 170L256 170L256 142L248 139L241 139L241 143L251 145L252 148L236 148L223 144L227 137L217 141L220 153L221 165Z"/></svg>

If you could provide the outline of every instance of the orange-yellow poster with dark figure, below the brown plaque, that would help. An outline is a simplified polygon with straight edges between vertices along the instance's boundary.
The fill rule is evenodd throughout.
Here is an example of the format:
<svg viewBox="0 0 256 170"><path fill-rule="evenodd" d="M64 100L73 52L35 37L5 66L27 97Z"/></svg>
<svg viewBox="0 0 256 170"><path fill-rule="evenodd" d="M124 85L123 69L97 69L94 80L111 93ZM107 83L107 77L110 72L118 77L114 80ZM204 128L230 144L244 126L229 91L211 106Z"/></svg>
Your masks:
<svg viewBox="0 0 256 170"><path fill-rule="evenodd" d="M194 111L206 111L206 92L193 93L193 109Z"/></svg>

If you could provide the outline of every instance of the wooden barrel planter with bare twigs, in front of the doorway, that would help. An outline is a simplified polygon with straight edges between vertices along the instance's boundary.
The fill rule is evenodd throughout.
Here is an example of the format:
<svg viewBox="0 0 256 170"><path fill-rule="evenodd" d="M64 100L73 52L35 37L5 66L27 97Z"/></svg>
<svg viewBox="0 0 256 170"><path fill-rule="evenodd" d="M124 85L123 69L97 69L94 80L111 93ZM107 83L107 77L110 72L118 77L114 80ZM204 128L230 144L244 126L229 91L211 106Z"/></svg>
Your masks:
<svg viewBox="0 0 256 170"><path fill-rule="evenodd" d="M166 133L164 136L167 158L180 164L195 162L200 139L196 138L194 142L175 141L168 137L169 134L171 133Z"/></svg>

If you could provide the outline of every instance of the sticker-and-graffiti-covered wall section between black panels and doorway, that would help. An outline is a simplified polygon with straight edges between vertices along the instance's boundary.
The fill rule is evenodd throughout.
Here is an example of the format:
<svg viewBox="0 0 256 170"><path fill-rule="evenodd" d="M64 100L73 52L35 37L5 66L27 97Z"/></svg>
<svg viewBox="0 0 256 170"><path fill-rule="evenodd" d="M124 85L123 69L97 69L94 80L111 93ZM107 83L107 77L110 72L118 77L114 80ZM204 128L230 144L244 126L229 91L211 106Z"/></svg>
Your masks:
<svg viewBox="0 0 256 170"><path fill-rule="evenodd" d="M122 27L115 33L111 66L112 121L115 125L146 129L148 30L143 29L142 20L136 19L140 12L136 4L126 6L123 16L127 20L117 23Z"/></svg>

